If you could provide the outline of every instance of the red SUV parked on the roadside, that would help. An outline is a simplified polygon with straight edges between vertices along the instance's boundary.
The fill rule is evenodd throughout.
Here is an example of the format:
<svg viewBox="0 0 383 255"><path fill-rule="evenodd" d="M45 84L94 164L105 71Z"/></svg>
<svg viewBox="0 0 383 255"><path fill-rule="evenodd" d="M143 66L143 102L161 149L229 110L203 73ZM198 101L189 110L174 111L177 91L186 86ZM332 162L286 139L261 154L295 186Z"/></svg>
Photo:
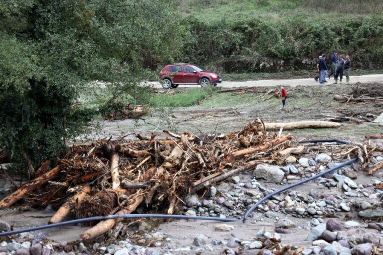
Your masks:
<svg viewBox="0 0 383 255"><path fill-rule="evenodd" d="M192 64L172 64L165 66L160 72L160 80L163 80L164 89L177 88L180 84L199 84L206 87L209 84L217 86L222 82L218 73L202 70Z"/></svg>

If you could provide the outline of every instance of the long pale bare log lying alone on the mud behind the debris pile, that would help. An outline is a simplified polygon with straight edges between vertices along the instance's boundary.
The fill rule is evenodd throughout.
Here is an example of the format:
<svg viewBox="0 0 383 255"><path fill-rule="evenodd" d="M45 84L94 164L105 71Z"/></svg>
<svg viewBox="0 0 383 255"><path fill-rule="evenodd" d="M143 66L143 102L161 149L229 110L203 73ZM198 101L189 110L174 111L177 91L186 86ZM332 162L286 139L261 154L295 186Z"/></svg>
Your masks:
<svg viewBox="0 0 383 255"><path fill-rule="evenodd" d="M302 121L302 122L287 122L287 123L265 123L266 130L292 130L300 128L339 128L342 125L335 122L324 121ZM260 127L261 128L261 127Z"/></svg>

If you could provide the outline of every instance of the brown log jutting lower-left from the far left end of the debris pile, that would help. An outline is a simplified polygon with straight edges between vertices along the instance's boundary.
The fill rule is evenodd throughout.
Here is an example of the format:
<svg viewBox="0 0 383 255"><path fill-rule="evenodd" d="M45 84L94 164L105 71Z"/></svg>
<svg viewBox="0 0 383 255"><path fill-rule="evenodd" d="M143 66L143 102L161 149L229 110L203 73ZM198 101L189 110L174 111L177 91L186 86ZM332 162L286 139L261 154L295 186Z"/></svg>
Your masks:
<svg viewBox="0 0 383 255"><path fill-rule="evenodd" d="M0 201L0 208L6 208L14 203L16 203L19 199L25 197L29 193L33 192L35 189L45 184L49 180L56 177L56 175L60 172L60 166L56 166L51 169L49 172L35 178L33 181L25 183L18 190L4 198Z"/></svg>

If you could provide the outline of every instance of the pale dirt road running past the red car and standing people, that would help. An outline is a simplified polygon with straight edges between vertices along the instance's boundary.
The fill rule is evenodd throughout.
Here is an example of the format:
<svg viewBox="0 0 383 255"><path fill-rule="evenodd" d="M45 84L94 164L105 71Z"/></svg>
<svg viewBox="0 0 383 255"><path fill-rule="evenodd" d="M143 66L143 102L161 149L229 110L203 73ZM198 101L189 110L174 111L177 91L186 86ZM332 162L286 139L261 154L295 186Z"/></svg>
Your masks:
<svg viewBox="0 0 383 255"><path fill-rule="evenodd" d="M224 77L223 77L224 79ZM327 79L327 84L332 84L334 79ZM346 81L346 77L344 77L344 82ZM370 74L370 75L362 75L362 76L351 76L350 83L355 84L357 82L361 83L374 83L379 82L383 83L383 74ZM158 82L152 83L156 88L162 88L161 84ZM319 82L314 81L313 78L310 79L289 79L289 80L258 80L258 81L223 81L218 86L223 88L235 88L235 87L266 87L266 86L315 86L319 85ZM178 88L192 88L197 85L180 85Z"/></svg>

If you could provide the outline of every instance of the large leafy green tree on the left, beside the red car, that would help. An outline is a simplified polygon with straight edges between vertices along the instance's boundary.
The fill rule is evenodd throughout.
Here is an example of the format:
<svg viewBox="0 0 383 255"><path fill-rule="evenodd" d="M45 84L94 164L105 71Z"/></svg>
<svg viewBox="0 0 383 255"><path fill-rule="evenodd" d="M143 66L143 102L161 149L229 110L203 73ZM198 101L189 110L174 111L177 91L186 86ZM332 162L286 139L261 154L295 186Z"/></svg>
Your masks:
<svg viewBox="0 0 383 255"><path fill-rule="evenodd" d="M144 69L183 40L171 0L2 0L0 20L0 145L35 166L86 131L95 112L73 104L90 81L143 100Z"/></svg>

